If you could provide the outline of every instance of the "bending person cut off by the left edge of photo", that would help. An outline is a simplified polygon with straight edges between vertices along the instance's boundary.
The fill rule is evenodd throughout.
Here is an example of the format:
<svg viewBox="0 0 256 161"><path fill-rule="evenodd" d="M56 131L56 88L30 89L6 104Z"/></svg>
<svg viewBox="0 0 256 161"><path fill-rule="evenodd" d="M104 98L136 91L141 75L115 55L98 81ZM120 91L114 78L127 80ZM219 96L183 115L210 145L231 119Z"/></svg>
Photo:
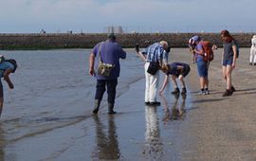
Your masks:
<svg viewBox="0 0 256 161"><path fill-rule="evenodd" d="M17 63L13 59L5 60L4 56L0 56L0 78L4 78L9 85L9 89L13 89L14 85L9 79L9 75L14 73L17 68ZM0 80L0 116L2 115L4 105L4 90L2 80Z"/></svg>

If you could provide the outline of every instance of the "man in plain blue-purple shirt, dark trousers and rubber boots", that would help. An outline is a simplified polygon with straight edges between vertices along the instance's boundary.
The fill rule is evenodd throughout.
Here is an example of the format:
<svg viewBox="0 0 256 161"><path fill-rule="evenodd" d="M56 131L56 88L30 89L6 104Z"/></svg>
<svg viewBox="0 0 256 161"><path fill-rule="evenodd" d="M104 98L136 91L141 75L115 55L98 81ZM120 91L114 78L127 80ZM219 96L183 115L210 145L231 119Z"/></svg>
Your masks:
<svg viewBox="0 0 256 161"><path fill-rule="evenodd" d="M95 76L97 79L96 94L95 94L95 107L93 110L94 114L98 114L101 99L105 92L105 87L107 87L108 94L108 114L116 114L114 109L115 98L116 98L116 88L118 85L118 78L120 73L119 59L125 59L126 52L121 48L121 46L116 42L116 35L111 33L108 35L108 40L106 42L101 42L95 45L89 60L89 74ZM99 62L113 64L109 76L102 76L95 72L94 68L98 68ZM95 61L97 60L97 61Z"/></svg>

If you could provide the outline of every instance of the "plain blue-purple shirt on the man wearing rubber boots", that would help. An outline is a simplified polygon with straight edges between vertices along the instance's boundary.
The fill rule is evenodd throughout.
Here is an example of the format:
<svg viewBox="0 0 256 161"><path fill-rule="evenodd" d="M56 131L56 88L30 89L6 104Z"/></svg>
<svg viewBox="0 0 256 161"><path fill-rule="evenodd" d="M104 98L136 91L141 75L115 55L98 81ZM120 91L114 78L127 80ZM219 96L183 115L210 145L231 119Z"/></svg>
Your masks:
<svg viewBox="0 0 256 161"><path fill-rule="evenodd" d="M126 58L126 52L121 48L121 46L116 41L106 41L101 42L98 45L95 45L92 53L95 55L95 63L94 68L97 69L99 65L99 49L101 45L101 61L102 63L111 63L114 64L110 76L100 76L96 71L96 79L97 80L114 80L119 77L120 73L120 64L119 59Z"/></svg>

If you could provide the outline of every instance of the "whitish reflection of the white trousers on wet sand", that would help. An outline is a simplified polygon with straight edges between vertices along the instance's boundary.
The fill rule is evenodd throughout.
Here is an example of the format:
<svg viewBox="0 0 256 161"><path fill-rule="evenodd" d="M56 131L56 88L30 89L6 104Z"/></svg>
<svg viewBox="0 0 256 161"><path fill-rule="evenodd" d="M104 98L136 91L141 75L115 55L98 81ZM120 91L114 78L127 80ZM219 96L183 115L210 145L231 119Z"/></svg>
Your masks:
<svg viewBox="0 0 256 161"><path fill-rule="evenodd" d="M146 133L144 154L147 159L162 160L163 144L155 106L145 107Z"/></svg>

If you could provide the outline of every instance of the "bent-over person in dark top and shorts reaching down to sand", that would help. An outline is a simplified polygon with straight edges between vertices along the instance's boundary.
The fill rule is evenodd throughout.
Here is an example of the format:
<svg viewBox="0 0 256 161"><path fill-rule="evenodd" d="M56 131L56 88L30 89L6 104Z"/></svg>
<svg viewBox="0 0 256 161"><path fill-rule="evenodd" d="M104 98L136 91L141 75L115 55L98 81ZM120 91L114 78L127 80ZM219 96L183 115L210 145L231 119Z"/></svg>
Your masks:
<svg viewBox="0 0 256 161"><path fill-rule="evenodd" d="M190 73L191 67L187 63L171 63L171 64L164 64L161 69L162 72L166 74L165 79L163 81L162 87L159 90L159 94L161 95L166 84L168 83L169 75L171 75L171 79L174 83L174 91L172 92L173 95L177 95L180 93L180 90L177 85L176 79L180 80L182 85L181 95L187 94L186 84L184 78Z"/></svg>

